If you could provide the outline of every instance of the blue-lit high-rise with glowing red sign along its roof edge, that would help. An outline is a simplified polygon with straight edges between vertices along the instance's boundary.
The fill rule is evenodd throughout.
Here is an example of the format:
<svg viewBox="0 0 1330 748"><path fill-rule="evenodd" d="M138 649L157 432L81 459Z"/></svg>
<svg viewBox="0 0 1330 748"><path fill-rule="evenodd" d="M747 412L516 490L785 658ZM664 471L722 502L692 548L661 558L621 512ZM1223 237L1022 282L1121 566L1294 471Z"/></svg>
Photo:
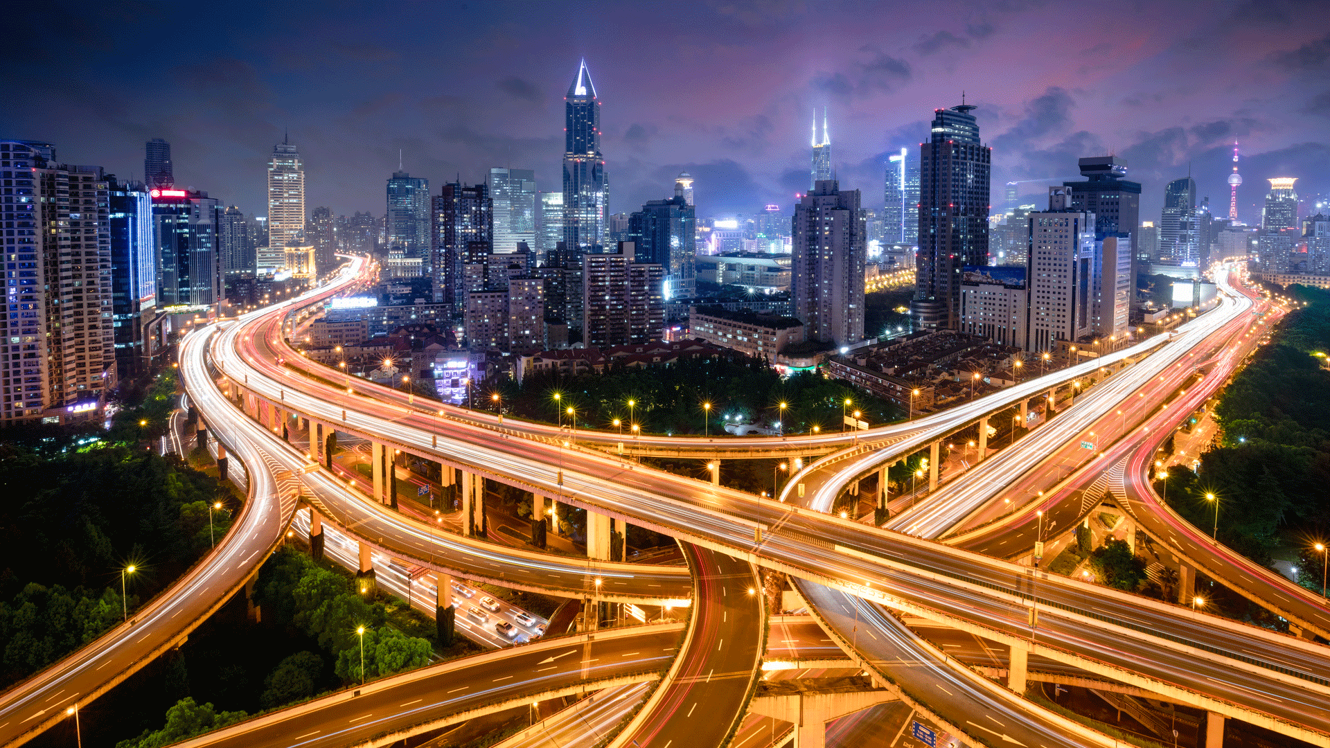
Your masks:
<svg viewBox="0 0 1330 748"><path fill-rule="evenodd" d="M161 306L211 306L222 295L222 265L217 252L221 201L206 192L154 190L157 238L157 301ZM270 245L271 246L271 245Z"/></svg>

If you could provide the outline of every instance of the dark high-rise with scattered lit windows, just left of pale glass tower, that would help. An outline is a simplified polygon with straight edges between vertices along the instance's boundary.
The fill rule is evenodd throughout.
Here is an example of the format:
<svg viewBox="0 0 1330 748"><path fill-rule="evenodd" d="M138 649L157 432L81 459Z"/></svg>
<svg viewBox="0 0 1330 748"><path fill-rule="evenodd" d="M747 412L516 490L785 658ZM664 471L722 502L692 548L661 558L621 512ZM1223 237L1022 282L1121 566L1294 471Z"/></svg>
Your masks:
<svg viewBox="0 0 1330 748"><path fill-rule="evenodd" d="M493 248L493 202L484 184L450 182L432 204L434 298L462 313L467 303L466 265Z"/></svg>

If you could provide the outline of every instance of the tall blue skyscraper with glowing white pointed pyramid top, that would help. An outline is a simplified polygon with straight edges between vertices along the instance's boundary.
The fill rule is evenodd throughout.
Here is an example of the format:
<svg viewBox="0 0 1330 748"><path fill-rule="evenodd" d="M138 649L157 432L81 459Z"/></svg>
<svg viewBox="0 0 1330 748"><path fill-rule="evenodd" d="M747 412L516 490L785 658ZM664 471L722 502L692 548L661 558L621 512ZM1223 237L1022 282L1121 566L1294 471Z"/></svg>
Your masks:
<svg viewBox="0 0 1330 748"><path fill-rule="evenodd" d="M564 101L564 242L576 254L602 252L609 188L600 152L600 100L587 60Z"/></svg>

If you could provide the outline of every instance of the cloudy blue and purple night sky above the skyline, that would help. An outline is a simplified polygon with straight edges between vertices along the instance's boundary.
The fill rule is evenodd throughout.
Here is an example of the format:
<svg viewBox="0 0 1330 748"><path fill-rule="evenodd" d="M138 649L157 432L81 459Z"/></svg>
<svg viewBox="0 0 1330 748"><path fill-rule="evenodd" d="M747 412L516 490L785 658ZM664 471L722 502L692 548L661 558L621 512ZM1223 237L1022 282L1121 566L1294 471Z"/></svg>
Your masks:
<svg viewBox="0 0 1330 748"><path fill-rule="evenodd" d="M1330 3L78 3L5 11L0 137L142 178L173 146L177 185L266 213L283 130L306 208L384 212L398 150L432 192L531 168L561 189L563 96L585 57L602 101L612 210L696 178L698 216L790 208L827 106L841 186L882 204L886 154L932 110L979 106L1003 182L1044 204L1076 158L1116 152L1158 220L1196 177L1240 217L1266 177L1330 194Z"/></svg>

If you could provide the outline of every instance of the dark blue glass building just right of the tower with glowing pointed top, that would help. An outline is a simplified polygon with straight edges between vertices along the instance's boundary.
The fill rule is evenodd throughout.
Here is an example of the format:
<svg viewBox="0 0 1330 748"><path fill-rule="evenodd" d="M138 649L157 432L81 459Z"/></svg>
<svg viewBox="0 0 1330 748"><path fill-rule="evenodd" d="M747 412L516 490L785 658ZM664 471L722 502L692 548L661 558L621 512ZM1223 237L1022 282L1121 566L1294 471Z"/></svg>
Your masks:
<svg viewBox="0 0 1330 748"><path fill-rule="evenodd" d="M697 220L693 206L681 194L652 200L628 220L637 262L665 269L665 299L690 297L697 291Z"/></svg>

